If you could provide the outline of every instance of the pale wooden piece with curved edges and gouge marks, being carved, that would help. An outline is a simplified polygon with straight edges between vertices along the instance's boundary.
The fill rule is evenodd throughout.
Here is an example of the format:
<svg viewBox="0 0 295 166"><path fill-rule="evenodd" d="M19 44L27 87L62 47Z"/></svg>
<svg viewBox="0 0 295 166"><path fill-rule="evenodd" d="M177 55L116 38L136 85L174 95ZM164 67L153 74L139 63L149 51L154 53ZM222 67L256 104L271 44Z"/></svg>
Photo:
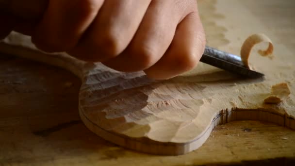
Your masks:
<svg viewBox="0 0 295 166"><path fill-rule="evenodd" d="M274 33L241 2L229 0L232 10L226 10L227 3L221 1L200 3L204 3L205 25L207 18L216 17L212 13L214 3L219 16L224 17L216 20L216 24L209 22L206 32L234 27L222 32L224 36L214 36L214 40L223 43L213 46L209 40L210 46L238 54L241 41L237 37L246 38L258 31L270 36L275 58L255 54L251 58L255 69L266 75L265 80L237 79L228 72L200 64L194 71L177 78L152 81L142 72L120 73L65 54L37 52L28 38L21 36L20 40L18 35L7 38L0 50L62 66L79 76L82 79L79 112L84 124L104 139L126 148L155 154L183 154L200 147L216 125L232 120L269 121L294 129L295 69L288 66L295 62L292 51L279 45ZM239 12L247 17L237 18L235 13ZM255 26L248 28L249 22ZM263 104L271 86L281 82L289 85L290 97L279 105Z"/></svg>

